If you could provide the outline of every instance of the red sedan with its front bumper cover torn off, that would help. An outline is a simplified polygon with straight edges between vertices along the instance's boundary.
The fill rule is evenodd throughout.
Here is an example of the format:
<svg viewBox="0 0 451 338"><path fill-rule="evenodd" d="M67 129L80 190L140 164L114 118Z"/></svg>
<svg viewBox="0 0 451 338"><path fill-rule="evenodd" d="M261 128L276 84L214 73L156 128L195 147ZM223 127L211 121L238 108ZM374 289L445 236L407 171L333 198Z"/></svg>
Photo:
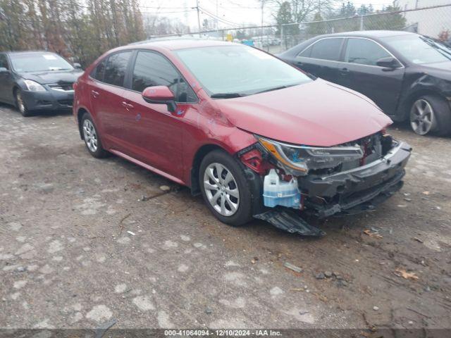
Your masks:
<svg viewBox="0 0 451 338"><path fill-rule="evenodd" d="M216 217L322 234L301 215L374 208L411 148L362 94L250 46L173 40L102 55L75 83L94 157L112 153L202 193Z"/></svg>

